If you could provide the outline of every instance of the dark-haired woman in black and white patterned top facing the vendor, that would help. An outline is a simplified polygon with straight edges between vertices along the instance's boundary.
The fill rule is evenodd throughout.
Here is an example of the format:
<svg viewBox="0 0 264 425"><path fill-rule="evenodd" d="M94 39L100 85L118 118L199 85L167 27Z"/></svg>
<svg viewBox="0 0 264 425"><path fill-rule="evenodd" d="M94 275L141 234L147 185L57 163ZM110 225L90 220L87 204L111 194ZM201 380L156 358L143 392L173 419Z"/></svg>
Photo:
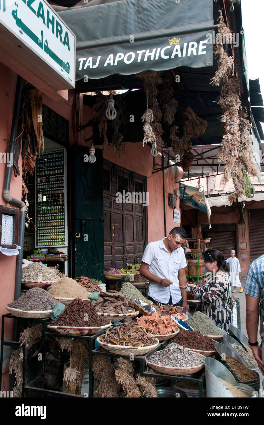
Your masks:
<svg viewBox="0 0 264 425"><path fill-rule="evenodd" d="M233 324L232 295L228 266L224 255L218 249L207 249L203 253L204 265L210 275L203 279L204 285L199 287L187 283L193 288L194 295L201 300L201 311L221 329L228 331Z"/></svg>

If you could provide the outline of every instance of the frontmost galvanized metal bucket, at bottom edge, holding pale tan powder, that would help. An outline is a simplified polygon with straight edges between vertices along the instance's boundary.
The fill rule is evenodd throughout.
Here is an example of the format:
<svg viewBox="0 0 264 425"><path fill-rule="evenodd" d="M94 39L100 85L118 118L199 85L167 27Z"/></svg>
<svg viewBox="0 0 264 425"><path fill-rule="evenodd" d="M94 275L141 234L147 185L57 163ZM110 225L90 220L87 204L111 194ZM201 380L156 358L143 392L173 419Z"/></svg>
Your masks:
<svg viewBox="0 0 264 425"><path fill-rule="evenodd" d="M205 357L204 359L205 382L206 382L206 397L208 398L234 398L233 394L220 380L229 382L236 388L244 392L248 397L256 397L253 394L253 388L249 385L240 384L236 382L231 372L223 365L212 357Z"/></svg>

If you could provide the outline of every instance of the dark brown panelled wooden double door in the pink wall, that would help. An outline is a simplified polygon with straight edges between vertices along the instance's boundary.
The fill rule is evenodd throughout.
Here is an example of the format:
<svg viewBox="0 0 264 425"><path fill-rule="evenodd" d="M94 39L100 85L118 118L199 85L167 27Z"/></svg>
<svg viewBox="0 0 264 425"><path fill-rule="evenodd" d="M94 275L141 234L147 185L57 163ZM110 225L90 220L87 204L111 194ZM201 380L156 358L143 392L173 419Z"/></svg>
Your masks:
<svg viewBox="0 0 264 425"><path fill-rule="evenodd" d="M147 206L140 202L118 203L116 193L146 193L146 177L118 167L103 165L105 269L140 263L147 244ZM145 201L146 204L146 201Z"/></svg>

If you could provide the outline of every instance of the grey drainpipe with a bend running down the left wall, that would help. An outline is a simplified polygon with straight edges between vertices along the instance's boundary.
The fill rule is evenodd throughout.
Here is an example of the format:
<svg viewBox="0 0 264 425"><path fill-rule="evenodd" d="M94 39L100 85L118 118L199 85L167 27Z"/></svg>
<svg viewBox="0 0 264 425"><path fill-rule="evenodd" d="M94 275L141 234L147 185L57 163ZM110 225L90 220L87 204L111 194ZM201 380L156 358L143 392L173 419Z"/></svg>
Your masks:
<svg viewBox="0 0 264 425"><path fill-rule="evenodd" d="M12 155L14 155L14 145L15 145L14 141L17 137L17 125L18 125L18 119L19 119L22 87L23 87L23 78L20 77L20 75L18 75L16 94L15 94L15 100L14 100L12 126L11 126L10 145L9 145L9 153L11 153ZM11 195L9 195L12 168L13 167L6 167L6 178L5 178L4 189L3 189L3 198L6 202L9 202L9 204L14 204L20 208L18 245L21 246L22 248L19 250L19 254L17 255L15 290L14 290L14 300L17 300L17 298L20 297L20 292L21 292L21 274L22 274L26 204L23 201L19 201L18 199L15 199Z"/></svg>

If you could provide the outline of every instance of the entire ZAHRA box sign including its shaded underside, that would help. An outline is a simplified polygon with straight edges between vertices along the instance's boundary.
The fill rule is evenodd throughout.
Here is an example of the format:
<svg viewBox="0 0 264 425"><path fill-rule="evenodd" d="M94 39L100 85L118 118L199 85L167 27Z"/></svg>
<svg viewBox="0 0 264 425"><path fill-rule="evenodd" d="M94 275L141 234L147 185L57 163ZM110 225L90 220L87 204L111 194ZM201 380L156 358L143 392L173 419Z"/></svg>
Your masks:
<svg viewBox="0 0 264 425"><path fill-rule="evenodd" d="M0 40L57 90L75 87L75 35L46 0L0 0Z"/></svg>

